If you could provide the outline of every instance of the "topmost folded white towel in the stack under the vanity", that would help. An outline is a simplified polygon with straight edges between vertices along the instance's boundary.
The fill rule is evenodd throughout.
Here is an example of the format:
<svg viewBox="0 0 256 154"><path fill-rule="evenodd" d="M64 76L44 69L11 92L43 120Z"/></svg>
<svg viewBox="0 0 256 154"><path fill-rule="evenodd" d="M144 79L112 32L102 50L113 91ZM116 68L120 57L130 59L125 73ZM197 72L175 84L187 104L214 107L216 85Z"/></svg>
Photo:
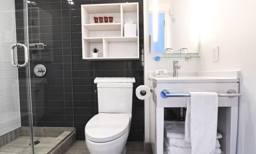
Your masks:
<svg viewBox="0 0 256 154"><path fill-rule="evenodd" d="M185 138L185 122L184 121L165 121L164 122L164 135L167 138ZM217 132L217 138L221 139L222 135Z"/></svg>

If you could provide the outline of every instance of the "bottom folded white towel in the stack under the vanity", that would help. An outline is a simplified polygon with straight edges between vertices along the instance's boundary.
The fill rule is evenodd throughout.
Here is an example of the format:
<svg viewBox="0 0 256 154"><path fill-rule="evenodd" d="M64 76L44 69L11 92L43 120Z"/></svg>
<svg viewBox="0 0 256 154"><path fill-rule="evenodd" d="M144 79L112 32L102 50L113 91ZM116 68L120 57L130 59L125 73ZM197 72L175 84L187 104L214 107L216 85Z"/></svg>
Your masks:
<svg viewBox="0 0 256 154"><path fill-rule="evenodd" d="M181 148L176 146L166 146L164 144L167 154L191 154L191 148ZM206 153L205 153L206 154ZM216 148L212 154L221 154L221 149Z"/></svg>

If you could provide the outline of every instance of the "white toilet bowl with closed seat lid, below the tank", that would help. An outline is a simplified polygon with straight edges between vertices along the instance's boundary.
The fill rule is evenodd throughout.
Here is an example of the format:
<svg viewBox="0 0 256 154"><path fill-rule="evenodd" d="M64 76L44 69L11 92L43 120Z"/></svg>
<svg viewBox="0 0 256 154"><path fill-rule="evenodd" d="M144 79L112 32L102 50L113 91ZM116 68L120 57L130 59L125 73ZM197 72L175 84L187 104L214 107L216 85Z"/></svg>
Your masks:
<svg viewBox="0 0 256 154"><path fill-rule="evenodd" d="M99 113L85 127L85 142L90 154L125 154L132 115Z"/></svg>

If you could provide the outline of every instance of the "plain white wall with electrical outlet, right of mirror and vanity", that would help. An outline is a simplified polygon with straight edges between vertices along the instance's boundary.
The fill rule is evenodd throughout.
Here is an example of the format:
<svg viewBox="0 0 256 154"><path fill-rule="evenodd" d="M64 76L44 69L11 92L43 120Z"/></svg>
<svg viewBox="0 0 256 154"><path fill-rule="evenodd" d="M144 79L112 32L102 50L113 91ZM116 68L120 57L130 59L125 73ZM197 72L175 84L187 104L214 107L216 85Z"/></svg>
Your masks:
<svg viewBox="0 0 256 154"><path fill-rule="evenodd" d="M198 71L241 70L237 154L256 153L256 1L201 1ZM219 46L219 61L211 48Z"/></svg>

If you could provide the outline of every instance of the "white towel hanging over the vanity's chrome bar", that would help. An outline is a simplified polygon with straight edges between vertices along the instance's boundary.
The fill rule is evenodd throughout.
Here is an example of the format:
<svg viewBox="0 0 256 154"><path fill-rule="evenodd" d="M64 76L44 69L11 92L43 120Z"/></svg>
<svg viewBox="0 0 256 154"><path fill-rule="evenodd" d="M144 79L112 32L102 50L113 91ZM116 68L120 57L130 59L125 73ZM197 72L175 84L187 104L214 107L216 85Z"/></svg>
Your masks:
<svg viewBox="0 0 256 154"><path fill-rule="evenodd" d="M214 154L216 146L218 94L190 92L188 99L185 141L191 142L191 154Z"/></svg>

